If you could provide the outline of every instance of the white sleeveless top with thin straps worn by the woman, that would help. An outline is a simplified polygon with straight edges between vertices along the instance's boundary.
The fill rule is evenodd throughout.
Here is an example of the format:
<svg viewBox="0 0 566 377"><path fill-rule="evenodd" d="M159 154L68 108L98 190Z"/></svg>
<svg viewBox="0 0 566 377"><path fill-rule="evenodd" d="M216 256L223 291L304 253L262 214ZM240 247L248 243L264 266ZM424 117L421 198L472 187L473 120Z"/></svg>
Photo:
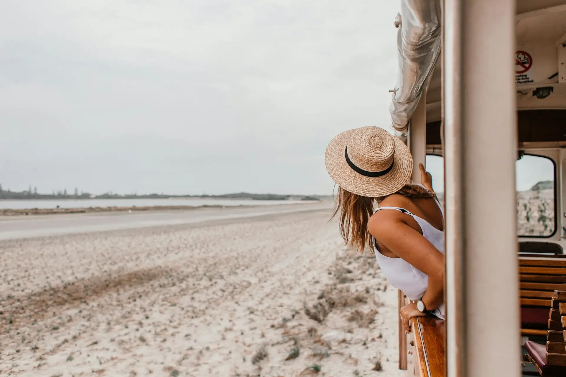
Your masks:
<svg viewBox="0 0 566 377"><path fill-rule="evenodd" d="M419 185L423 187L422 185ZM424 187L423 187L424 188ZM425 188L426 189L426 188ZM428 191L428 190L427 190ZM435 198L440 211L442 213L442 218L444 219L444 210L440 205L440 202ZM436 249L444 254L444 232L439 231L433 227L427 220L419 218L419 216L410 213L408 210L400 207L378 207L375 211L380 211L384 209L392 209L401 211L402 213L412 216L419 226L421 227L424 238L426 238ZM411 266L409 262L406 262L402 258L389 258L379 252L378 243L372 237L375 249L375 259L378 261L378 265L385 275L385 279L393 287L401 289L407 297L413 301L421 300L424 292L428 287L428 276L424 274L421 270ZM444 304L438 307L433 314L441 319L444 318Z"/></svg>

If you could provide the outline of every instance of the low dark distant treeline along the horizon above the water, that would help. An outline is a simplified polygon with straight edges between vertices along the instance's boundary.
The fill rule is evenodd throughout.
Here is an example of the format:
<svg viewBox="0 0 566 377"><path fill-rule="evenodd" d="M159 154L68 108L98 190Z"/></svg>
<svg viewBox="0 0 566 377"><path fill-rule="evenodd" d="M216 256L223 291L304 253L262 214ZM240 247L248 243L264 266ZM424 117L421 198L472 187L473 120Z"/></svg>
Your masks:
<svg viewBox="0 0 566 377"><path fill-rule="evenodd" d="M107 192L100 195L93 195L88 192L79 192L75 189L73 193L68 193L67 190L60 190L51 194L37 193L37 188L24 190L22 192L11 191L10 189L2 189L0 185L0 199L156 199L156 198L218 198L218 199L251 199L251 200L320 200L318 196L303 196L303 195L279 195L279 194L251 194L247 192L223 194L223 195L166 195L166 194L116 194Z"/></svg>

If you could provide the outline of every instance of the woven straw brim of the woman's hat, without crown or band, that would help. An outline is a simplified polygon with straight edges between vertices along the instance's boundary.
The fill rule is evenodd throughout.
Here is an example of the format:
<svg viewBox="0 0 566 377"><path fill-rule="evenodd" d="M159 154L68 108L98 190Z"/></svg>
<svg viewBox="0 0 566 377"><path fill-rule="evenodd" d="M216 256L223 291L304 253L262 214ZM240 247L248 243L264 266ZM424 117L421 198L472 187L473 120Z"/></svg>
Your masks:
<svg viewBox="0 0 566 377"><path fill-rule="evenodd" d="M380 177L366 177L355 172L346 162L344 152L352 133L350 129L332 139L324 154L326 170L333 181L342 189L367 197L383 197L400 190L413 174L413 157L409 148L399 138L395 140L395 162L387 174Z"/></svg>

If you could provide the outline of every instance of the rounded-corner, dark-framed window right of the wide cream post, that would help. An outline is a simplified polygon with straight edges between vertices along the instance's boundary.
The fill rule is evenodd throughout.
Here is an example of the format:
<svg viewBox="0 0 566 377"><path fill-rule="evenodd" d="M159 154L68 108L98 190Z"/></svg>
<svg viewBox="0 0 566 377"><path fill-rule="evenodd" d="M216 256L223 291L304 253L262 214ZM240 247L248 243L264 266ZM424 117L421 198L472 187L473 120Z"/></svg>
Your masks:
<svg viewBox="0 0 566 377"><path fill-rule="evenodd" d="M550 237L556 232L555 163L525 154L515 163L517 235Z"/></svg>

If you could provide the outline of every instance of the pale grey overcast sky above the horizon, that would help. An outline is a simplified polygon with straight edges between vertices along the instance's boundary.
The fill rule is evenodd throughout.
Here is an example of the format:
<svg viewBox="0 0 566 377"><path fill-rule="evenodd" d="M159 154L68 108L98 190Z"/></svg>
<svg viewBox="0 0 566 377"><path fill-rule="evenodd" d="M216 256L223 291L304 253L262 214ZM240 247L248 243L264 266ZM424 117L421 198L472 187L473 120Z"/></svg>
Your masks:
<svg viewBox="0 0 566 377"><path fill-rule="evenodd" d="M331 193L331 138L389 127L398 3L2 0L0 183Z"/></svg>

